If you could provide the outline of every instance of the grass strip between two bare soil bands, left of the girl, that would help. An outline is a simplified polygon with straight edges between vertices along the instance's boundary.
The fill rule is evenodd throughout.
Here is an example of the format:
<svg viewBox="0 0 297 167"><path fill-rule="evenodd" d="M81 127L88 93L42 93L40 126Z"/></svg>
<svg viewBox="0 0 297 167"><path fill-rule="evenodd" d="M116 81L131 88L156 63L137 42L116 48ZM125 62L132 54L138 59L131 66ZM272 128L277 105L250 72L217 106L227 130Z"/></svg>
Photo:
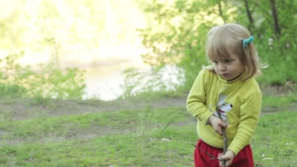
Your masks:
<svg viewBox="0 0 297 167"><path fill-rule="evenodd" d="M8 115L8 116L7 116ZM165 128L170 124L187 121L188 113L182 108L163 108L150 110L121 110L102 113L85 113L52 118L35 118L21 121L11 121L8 112L0 114L0 129L9 132L5 138L41 138L51 134L63 136L69 130L84 131L92 127L108 127L110 129L125 130L136 126L154 125ZM98 130L97 129L97 130Z"/></svg>

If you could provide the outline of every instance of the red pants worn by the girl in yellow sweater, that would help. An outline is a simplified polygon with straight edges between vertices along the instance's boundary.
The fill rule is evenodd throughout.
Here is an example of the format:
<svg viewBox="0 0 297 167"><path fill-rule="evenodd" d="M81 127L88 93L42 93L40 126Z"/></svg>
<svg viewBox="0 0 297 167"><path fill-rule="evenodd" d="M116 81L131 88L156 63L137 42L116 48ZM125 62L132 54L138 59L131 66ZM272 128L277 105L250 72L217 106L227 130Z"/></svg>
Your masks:
<svg viewBox="0 0 297 167"><path fill-rule="evenodd" d="M217 158L219 153L223 152L223 149L210 146L199 139L194 152L195 167L219 167L219 161L217 159L212 159L212 157L199 148L215 158ZM253 152L250 145L243 147L238 152L233 159L231 167L254 167Z"/></svg>

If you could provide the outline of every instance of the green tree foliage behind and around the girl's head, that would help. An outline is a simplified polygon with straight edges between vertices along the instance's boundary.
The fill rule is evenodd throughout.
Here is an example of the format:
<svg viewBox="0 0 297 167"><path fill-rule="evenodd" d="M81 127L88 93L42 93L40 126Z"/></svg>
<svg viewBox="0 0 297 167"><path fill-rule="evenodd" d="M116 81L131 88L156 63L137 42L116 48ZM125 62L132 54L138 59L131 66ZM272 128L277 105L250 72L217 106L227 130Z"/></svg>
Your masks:
<svg viewBox="0 0 297 167"><path fill-rule="evenodd" d="M143 60L156 69L166 64L181 67L186 80L183 89L189 90L201 65L207 63L206 33L214 25L236 22L250 29L260 59L270 65L260 82L297 82L297 3L293 1L143 1L144 11L154 18L148 28L140 30L143 45L151 51L142 55ZM277 16L272 15L273 6Z"/></svg>

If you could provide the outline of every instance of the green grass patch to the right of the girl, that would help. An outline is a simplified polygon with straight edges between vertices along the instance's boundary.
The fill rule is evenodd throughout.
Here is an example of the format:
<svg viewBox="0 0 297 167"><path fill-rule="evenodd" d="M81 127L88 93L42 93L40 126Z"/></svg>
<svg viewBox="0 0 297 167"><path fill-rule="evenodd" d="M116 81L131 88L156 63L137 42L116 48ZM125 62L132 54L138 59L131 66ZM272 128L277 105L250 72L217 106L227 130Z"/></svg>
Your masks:
<svg viewBox="0 0 297 167"><path fill-rule="evenodd" d="M266 114L260 118L252 142L255 161L268 167L297 166L296 111Z"/></svg>

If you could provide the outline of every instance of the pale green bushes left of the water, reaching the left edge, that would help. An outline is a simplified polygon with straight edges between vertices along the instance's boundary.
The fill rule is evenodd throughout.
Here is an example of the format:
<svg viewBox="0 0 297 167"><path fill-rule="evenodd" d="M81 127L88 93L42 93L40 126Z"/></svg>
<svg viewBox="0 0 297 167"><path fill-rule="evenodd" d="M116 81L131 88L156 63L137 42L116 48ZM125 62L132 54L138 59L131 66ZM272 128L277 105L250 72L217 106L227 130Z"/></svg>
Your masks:
<svg viewBox="0 0 297 167"><path fill-rule="evenodd" d="M16 61L23 53L0 59L0 96L81 99L84 73L77 68L63 70L56 63L39 64L39 71Z"/></svg>

